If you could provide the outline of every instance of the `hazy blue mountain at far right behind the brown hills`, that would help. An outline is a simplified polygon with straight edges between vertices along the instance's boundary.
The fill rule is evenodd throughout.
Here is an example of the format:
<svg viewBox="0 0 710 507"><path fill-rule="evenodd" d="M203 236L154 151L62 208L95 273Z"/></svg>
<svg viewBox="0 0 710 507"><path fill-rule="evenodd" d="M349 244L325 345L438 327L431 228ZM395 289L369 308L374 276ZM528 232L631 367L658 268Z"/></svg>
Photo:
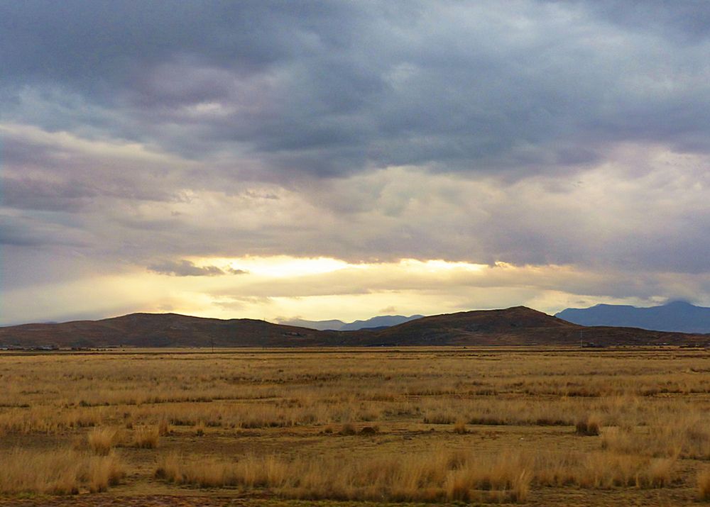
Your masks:
<svg viewBox="0 0 710 507"><path fill-rule="evenodd" d="M567 308L555 315L581 325L613 325L655 331L710 333L710 308L687 301L662 306L637 308L628 305L599 304L591 308Z"/></svg>

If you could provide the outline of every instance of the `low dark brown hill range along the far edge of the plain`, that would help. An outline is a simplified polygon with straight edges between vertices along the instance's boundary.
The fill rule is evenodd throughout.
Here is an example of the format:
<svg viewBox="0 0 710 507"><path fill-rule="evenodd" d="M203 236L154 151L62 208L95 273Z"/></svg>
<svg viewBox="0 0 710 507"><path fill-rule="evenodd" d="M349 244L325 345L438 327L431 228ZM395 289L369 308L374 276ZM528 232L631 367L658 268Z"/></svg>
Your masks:
<svg viewBox="0 0 710 507"><path fill-rule="evenodd" d="M132 313L101 321L0 328L0 345L23 347L308 347L376 345L673 345L703 344L709 335L635 328L585 327L516 306L419 318L383 330L318 331L253 319Z"/></svg>

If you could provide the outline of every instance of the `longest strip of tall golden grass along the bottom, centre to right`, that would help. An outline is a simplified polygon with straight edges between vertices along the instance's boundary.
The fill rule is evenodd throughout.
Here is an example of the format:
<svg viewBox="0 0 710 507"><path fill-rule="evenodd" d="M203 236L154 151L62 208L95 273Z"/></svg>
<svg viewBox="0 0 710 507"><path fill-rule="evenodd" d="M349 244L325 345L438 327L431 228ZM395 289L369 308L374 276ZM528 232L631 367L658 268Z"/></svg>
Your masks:
<svg viewBox="0 0 710 507"><path fill-rule="evenodd" d="M160 457L155 477L204 488L262 487L286 498L471 501L495 496L525 501L531 485L662 488L672 483L674 465L674 459L610 452L506 452L491 457L436 450L379 459L288 461L271 455L236 462L198 461L173 452Z"/></svg>

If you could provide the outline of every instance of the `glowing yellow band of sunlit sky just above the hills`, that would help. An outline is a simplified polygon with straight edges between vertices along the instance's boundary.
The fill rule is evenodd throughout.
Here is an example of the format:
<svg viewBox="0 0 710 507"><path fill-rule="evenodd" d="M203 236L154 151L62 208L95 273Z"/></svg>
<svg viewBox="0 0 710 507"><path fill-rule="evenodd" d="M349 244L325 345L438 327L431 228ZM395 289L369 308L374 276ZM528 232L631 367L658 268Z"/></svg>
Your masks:
<svg viewBox="0 0 710 507"><path fill-rule="evenodd" d="M569 266L413 258L358 263L289 255L190 257L188 264L192 271L182 273L178 268L158 272L135 266L98 278L48 283L43 286L46 296L35 296L32 307L22 304L30 298L31 289L18 289L5 306L20 323L36 321L32 313L36 311L47 320L83 318L84 313L97 308L96 301L106 302L99 306L97 317L145 311L269 321L354 321L385 314L433 315L521 303L555 313L579 304L580 299L589 305L601 302L594 294L576 295L577 284L584 283L589 274L576 273ZM177 261L167 265L183 266ZM549 286L542 291L530 289L541 280ZM555 281L569 284L572 292L559 291ZM57 294L72 308L70 318L63 307L53 311ZM613 302L643 303L621 298Z"/></svg>

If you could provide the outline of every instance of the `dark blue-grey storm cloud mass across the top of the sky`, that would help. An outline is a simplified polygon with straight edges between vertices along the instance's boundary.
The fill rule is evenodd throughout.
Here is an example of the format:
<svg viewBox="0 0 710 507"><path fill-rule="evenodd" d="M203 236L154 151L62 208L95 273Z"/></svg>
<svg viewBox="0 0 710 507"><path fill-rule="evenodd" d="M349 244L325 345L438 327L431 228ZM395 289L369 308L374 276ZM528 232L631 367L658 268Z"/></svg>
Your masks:
<svg viewBox="0 0 710 507"><path fill-rule="evenodd" d="M95 108L78 113L84 130L197 159L249 153L282 177L386 165L522 176L586 165L620 140L707 151L708 11L3 2L4 116L23 116L28 87L35 110L42 94L80 97ZM56 128L53 115L37 121Z"/></svg>

